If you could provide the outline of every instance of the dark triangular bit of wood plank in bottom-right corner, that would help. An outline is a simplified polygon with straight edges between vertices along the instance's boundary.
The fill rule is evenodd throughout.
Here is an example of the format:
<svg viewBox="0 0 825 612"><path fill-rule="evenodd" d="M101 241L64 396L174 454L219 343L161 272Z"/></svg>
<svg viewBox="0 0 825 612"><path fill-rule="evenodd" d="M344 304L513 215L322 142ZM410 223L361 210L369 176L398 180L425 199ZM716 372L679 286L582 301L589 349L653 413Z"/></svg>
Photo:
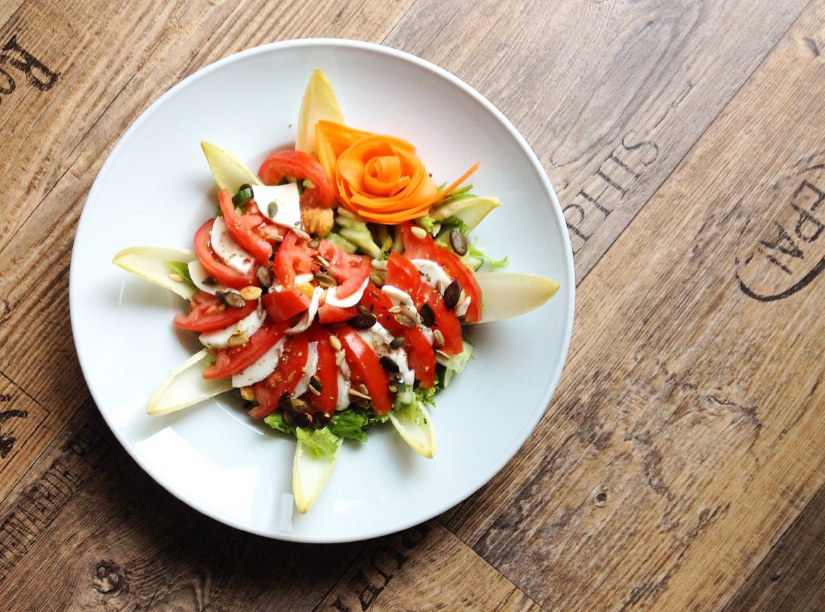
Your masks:
<svg viewBox="0 0 825 612"><path fill-rule="evenodd" d="M738 610L825 610L825 488L724 606Z"/></svg>

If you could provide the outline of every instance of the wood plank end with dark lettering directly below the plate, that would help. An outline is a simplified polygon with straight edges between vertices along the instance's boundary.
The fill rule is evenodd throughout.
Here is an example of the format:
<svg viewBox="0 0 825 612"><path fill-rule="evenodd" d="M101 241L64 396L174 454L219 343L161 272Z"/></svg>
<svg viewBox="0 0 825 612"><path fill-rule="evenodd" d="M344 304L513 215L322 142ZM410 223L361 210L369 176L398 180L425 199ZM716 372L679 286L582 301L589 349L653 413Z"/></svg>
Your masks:
<svg viewBox="0 0 825 612"><path fill-rule="evenodd" d="M454 535L431 521L370 542L315 611L459 609L540 610Z"/></svg>

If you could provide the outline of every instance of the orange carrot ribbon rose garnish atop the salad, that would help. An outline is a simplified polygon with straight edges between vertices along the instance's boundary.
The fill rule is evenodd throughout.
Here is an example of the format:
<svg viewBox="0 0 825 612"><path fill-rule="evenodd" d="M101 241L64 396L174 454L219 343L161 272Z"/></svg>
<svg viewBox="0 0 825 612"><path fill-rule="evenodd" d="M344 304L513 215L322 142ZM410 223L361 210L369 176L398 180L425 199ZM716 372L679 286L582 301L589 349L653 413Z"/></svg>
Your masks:
<svg viewBox="0 0 825 612"><path fill-rule="evenodd" d="M316 124L315 134L318 161L337 187L338 200L375 223L398 224L424 216L478 167L439 192L406 140L324 120Z"/></svg>

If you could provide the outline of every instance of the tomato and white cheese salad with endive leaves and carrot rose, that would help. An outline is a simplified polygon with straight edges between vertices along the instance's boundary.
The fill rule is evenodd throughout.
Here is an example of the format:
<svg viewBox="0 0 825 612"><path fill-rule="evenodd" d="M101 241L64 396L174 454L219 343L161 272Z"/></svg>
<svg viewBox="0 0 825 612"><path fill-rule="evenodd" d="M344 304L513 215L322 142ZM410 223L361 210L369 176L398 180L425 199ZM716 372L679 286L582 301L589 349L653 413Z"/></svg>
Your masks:
<svg viewBox="0 0 825 612"><path fill-rule="evenodd" d="M436 186L412 144L346 125L316 70L295 149L257 173L201 144L219 187L194 249L131 247L115 264L188 300L173 324L203 350L158 387L163 415L238 393L249 417L297 441L299 511L317 499L343 440L389 421L432 457L428 407L467 365L465 327L536 308L559 285L493 272L469 233L500 203Z"/></svg>

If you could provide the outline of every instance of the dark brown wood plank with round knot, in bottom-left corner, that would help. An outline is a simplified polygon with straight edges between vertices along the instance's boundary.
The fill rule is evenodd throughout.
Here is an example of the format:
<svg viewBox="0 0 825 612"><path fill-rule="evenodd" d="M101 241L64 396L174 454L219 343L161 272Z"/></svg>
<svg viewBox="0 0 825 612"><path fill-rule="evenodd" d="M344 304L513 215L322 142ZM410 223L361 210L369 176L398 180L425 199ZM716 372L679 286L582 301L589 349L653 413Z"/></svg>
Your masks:
<svg viewBox="0 0 825 612"><path fill-rule="evenodd" d="M0 600L20 612L300 612L361 548L279 542L198 514L125 454L90 402L0 504Z"/></svg>

